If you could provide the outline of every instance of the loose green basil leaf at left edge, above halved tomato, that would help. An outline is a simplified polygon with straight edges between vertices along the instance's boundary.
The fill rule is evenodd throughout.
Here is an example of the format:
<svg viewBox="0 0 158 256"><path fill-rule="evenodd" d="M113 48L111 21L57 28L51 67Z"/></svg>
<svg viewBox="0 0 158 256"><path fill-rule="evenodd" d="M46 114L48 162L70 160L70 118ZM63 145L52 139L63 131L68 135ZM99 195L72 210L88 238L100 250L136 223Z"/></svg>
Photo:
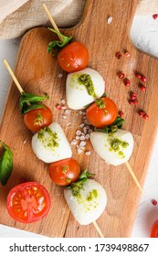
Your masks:
<svg viewBox="0 0 158 256"><path fill-rule="evenodd" d="M2 144L5 149L4 155L0 158L0 181L1 184L5 186L13 170L13 153L2 141L0 141L0 144Z"/></svg>

